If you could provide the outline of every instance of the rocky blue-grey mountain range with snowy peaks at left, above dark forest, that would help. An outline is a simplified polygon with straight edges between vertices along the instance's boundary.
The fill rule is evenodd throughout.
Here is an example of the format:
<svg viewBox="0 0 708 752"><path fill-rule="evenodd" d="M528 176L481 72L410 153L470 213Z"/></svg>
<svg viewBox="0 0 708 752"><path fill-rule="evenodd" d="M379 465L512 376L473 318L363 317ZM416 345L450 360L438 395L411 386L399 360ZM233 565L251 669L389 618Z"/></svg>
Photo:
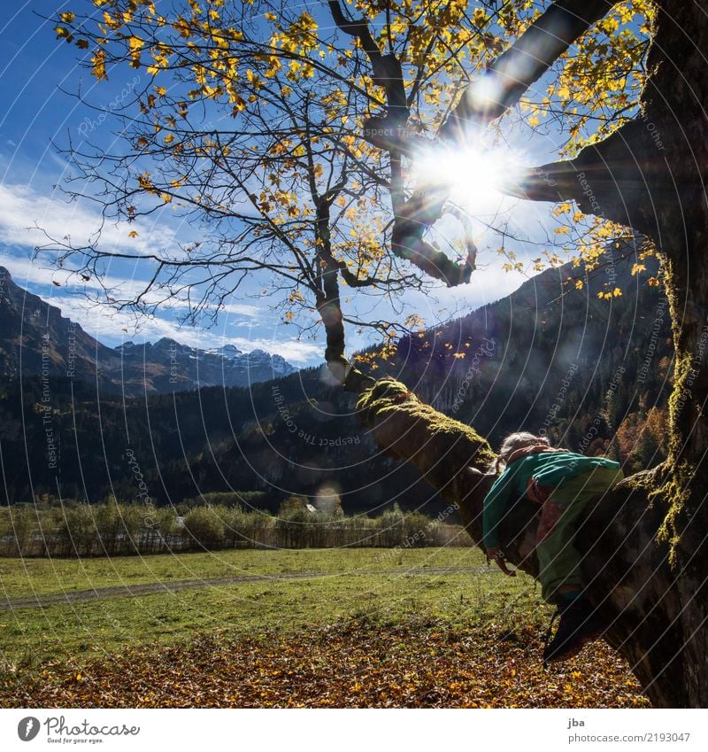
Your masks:
<svg viewBox="0 0 708 752"><path fill-rule="evenodd" d="M128 397L203 386L248 386L295 373L281 355L243 353L235 345L197 349L163 337L152 344L107 347L12 281L0 267L0 375L44 373L96 383Z"/></svg>

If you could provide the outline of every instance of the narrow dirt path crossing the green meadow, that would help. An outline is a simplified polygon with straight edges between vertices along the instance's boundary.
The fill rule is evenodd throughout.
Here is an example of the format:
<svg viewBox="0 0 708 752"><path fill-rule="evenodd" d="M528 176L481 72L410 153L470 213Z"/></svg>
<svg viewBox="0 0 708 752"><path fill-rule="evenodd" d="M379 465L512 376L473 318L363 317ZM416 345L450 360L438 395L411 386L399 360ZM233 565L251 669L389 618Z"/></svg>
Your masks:
<svg viewBox="0 0 708 752"><path fill-rule="evenodd" d="M281 582L290 579L318 579L327 577L361 577L363 575L399 575L400 577L421 575L476 574L484 567L430 567L415 570L357 570L355 572L290 572L281 575L244 575L227 578L177 579L165 582L148 582L142 585L117 585L96 587L91 590L74 590L65 593L44 593L8 598L0 596L0 611L16 609L44 609L49 606L65 606L86 601L104 601L109 598L132 598L138 595L156 593L176 593L199 587L238 585L243 582Z"/></svg>

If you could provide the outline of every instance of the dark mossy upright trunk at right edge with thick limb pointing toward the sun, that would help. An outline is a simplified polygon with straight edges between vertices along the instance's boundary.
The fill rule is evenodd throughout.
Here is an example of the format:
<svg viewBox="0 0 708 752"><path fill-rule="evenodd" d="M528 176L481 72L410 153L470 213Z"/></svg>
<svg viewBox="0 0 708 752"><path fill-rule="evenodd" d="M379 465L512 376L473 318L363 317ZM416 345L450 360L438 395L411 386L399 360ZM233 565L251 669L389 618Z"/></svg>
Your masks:
<svg viewBox="0 0 708 752"><path fill-rule="evenodd" d="M691 707L708 705L707 5L657 3L640 116L573 163L542 167L532 187L548 194L544 175L557 174L559 195L650 236L663 260L675 347L670 452L664 468L641 482L662 517L654 555L668 549L675 580L657 606L675 619L660 649L664 662L680 651L674 663L683 694L673 704Z"/></svg>

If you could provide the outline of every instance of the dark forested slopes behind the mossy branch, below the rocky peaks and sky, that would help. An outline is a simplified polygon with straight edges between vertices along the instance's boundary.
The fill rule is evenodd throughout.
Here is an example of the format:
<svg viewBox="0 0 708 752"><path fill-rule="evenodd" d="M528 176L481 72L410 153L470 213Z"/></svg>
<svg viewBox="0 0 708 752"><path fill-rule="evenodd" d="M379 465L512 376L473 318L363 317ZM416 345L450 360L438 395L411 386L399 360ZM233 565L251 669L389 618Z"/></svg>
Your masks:
<svg viewBox="0 0 708 752"><path fill-rule="evenodd" d="M629 470L650 467L665 456L673 351L663 291L630 275L631 262L612 267L620 297L597 297L602 274L577 290L569 267L550 269L405 337L389 360L364 353L373 357L364 368L396 376L493 446L532 430ZM0 387L0 450L5 504L114 497L159 507L235 491L260 492L254 506L273 513L292 494L336 493L347 514L446 506L415 469L381 453L324 368L147 399L53 376L11 380Z"/></svg>

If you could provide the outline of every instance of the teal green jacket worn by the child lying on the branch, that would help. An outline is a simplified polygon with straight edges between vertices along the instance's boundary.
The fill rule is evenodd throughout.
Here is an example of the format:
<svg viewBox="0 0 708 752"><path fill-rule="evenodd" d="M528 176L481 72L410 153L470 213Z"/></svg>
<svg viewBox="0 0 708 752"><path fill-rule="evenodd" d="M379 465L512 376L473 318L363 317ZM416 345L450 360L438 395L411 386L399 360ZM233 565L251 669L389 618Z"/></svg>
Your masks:
<svg viewBox="0 0 708 752"><path fill-rule="evenodd" d="M619 462L608 460L606 457L586 457L584 454L573 452L540 452L528 454L511 462L496 478L484 498L484 547L499 546L498 525L510 501L514 503L526 496L531 479L540 486L555 487L572 477L589 472L598 465L604 468L620 467Z"/></svg>

